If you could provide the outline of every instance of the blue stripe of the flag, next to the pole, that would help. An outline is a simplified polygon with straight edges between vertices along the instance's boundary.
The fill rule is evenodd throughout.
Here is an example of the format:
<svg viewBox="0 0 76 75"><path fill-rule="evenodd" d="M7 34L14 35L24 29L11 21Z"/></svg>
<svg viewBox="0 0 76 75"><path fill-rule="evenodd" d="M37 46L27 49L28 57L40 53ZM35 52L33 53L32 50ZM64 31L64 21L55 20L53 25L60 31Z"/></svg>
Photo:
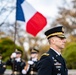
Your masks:
<svg viewBox="0 0 76 75"><path fill-rule="evenodd" d="M24 0L17 0L16 2L16 20L25 21L21 4Z"/></svg>

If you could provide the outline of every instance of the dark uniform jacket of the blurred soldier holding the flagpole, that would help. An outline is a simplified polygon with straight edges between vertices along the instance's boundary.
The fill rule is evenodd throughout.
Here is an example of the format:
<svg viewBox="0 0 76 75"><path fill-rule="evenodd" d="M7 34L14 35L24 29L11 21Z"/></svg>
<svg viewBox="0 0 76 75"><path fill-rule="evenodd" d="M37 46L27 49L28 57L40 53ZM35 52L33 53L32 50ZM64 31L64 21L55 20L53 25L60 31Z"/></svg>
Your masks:
<svg viewBox="0 0 76 75"><path fill-rule="evenodd" d="M7 61L7 65L11 66L13 72L19 72L18 75L23 75L22 70L25 67L25 62L21 59L21 61L17 62L15 59L11 59Z"/></svg>

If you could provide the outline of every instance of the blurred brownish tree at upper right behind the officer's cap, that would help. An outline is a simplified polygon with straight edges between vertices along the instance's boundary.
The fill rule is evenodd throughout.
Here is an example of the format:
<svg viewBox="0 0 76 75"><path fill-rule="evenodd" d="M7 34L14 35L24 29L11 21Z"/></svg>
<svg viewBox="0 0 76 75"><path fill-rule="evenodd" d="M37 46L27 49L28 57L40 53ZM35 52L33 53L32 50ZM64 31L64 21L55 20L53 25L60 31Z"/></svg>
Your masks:
<svg viewBox="0 0 76 75"><path fill-rule="evenodd" d="M63 25L66 34L76 35L76 0L72 0L70 4L59 7L59 15L53 22L52 26Z"/></svg>

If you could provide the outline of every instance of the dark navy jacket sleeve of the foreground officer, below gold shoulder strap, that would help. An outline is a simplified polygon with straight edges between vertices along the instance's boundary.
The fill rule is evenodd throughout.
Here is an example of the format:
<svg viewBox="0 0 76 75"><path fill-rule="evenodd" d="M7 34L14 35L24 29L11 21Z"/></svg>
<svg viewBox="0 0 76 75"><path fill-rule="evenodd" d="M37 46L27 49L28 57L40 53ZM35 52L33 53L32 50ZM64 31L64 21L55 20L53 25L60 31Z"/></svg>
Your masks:
<svg viewBox="0 0 76 75"><path fill-rule="evenodd" d="M38 63L38 75L52 75L52 63L47 57Z"/></svg>

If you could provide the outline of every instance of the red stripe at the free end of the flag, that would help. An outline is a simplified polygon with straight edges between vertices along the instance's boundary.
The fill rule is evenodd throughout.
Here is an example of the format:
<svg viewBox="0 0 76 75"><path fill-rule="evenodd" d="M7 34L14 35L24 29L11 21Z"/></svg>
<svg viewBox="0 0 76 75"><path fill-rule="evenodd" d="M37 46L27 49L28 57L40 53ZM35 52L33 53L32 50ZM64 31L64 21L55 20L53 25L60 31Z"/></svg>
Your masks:
<svg viewBox="0 0 76 75"><path fill-rule="evenodd" d="M33 36L36 36L47 24L46 18L37 12L34 16L27 22L26 31Z"/></svg>

